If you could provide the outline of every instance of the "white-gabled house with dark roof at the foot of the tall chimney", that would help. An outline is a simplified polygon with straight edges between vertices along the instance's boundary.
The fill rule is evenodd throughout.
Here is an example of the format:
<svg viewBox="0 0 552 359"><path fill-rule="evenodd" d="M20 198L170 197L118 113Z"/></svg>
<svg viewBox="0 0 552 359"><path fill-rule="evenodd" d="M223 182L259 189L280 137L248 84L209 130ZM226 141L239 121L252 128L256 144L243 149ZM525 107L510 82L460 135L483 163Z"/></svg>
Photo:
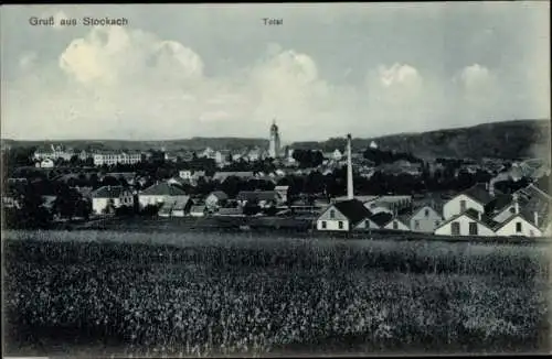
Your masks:
<svg viewBox="0 0 552 359"><path fill-rule="evenodd" d="M322 231L350 231L364 225L372 214L362 202L348 199L331 204L316 220L316 228ZM368 227L373 225L368 221Z"/></svg>

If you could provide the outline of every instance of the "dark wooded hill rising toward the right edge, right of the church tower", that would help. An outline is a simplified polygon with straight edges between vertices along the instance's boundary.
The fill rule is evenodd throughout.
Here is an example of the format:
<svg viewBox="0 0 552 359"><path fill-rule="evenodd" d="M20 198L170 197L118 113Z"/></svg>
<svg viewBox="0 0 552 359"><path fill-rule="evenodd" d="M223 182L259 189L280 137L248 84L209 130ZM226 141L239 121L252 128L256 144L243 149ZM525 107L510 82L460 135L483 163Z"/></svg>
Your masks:
<svg viewBox="0 0 552 359"><path fill-rule="evenodd" d="M516 120L421 133L399 133L355 139L353 150L363 150L373 140L382 150L413 153L418 157L550 157L550 120ZM296 149L333 151L344 149L344 138L323 142L297 142Z"/></svg>

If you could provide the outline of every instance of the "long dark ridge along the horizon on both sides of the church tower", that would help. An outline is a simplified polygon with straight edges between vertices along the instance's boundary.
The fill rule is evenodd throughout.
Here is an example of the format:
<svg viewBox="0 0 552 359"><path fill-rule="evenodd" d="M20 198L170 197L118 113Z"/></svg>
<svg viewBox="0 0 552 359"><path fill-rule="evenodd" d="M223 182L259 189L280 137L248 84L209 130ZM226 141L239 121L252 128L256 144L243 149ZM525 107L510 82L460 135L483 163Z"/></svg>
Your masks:
<svg viewBox="0 0 552 359"><path fill-rule="evenodd" d="M421 157L550 157L550 120L512 120L481 123L471 127L434 130L420 133L397 133L374 138L354 138L354 150L368 148L375 141L383 150L410 152ZM2 146L35 146L51 143L75 149L105 150L237 150L242 148L267 148L268 139L238 137L193 137L182 140L132 141L132 140L64 140L18 141L2 140ZM346 139L331 138L326 141L295 142L294 149L318 149L326 152L344 149Z"/></svg>

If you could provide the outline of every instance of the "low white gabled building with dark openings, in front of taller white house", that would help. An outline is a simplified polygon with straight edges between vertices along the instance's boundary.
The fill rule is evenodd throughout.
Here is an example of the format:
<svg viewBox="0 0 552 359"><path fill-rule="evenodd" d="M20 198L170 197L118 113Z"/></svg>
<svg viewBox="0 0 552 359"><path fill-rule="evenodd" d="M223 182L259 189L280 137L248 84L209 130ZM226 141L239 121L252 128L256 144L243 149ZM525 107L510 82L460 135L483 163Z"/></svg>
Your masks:
<svg viewBox="0 0 552 359"><path fill-rule="evenodd" d="M484 236L493 237L497 226L481 211L468 208L466 211L446 219L435 229L437 236Z"/></svg>

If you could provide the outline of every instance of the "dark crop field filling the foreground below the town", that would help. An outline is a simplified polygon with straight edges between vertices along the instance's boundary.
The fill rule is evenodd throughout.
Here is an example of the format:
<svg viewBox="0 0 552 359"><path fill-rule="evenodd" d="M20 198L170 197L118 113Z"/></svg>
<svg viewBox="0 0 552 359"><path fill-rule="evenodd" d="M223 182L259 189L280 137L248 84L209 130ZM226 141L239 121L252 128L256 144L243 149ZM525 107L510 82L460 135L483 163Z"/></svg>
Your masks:
<svg viewBox="0 0 552 359"><path fill-rule="evenodd" d="M3 235L7 355L549 351L542 244Z"/></svg>

